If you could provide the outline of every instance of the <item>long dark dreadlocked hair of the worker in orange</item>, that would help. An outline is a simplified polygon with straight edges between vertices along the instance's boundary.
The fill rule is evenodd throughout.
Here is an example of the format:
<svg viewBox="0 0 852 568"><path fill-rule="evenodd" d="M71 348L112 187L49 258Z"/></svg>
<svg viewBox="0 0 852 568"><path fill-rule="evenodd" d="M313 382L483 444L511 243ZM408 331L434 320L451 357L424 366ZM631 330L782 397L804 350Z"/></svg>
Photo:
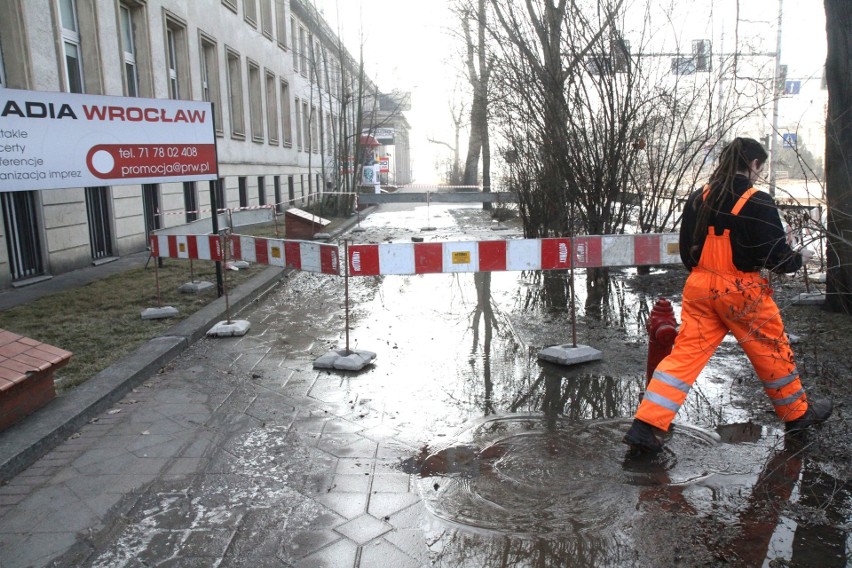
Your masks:
<svg viewBox="0 0 852 568"><path fill-rule="evenodd" d="M722 149L719 164L710 174L708 183L710 191L707 192L704 199L696 201L698 215L696 216L695 232L692 235L694 245L690 251L693 258L697 260L701 256L704 239L707 237L707 225L710 216L714 211L719 211L722 204L725 203L725 197L733 193L734 177L736 177L737 172L747 172L752 161L757 160L759 164L763 164L768 157L769 154L766 153L760 142L753 138L734 138Z"/></svg>

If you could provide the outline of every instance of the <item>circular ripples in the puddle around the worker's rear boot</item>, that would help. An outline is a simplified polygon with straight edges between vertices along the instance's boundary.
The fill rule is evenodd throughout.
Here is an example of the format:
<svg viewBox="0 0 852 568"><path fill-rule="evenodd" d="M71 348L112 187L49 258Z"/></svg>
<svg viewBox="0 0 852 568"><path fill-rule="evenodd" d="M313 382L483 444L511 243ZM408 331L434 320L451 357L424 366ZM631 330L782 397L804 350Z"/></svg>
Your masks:
<svg viewBox="0 0 852 568"><path fill-rule="evenodd" d="M439 518L516 536L581 538L608 534L637 487L694 483L709 475L683 459L713 436L679 428L654 462L622 467L627 422L496 418L425 459L421 495ZM492 441L493 440L493 441ZM674 456L681 456L675 459Z"/></svg>

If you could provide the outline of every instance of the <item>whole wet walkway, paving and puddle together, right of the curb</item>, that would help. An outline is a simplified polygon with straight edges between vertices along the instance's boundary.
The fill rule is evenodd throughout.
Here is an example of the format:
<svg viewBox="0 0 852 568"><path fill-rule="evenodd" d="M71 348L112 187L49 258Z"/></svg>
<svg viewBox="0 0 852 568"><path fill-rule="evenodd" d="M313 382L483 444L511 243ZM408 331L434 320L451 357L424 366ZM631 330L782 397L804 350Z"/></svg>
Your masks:
<svg viewBox="0 0 852 568"><path fill-rule="evenodd" d="M359 242L512 233L436 206L383 206L363 227ZM530 286L351 279L352 347L378 359L342 373L312 368L343 345L342 279L292 276L239 314L245 337L200 340L0 487L0 567L845 564L845 532L777 502L843 501L801 446L719 427L736 422L712 410L730 382L692 395L697 427L659 460L625 460L644 368L618 361L641 362L641 339L542 366L537 342L566 338L511 316Z"/></svg>

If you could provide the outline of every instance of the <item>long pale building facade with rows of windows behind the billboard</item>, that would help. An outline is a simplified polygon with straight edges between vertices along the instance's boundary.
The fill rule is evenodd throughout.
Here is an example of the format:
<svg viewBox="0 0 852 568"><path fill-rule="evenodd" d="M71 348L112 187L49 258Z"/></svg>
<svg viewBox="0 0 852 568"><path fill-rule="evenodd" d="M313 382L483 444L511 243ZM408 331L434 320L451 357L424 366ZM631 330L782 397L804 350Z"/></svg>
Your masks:
<svg viewBox="0 0 852 568"><path fill-rule="evenodd" d="M214 197L283 210L337 187L346 94L378 92L357 69L303 0L0 0L0 88L212 102L220 176L0 193L0 288L144 250Z"/></svg>

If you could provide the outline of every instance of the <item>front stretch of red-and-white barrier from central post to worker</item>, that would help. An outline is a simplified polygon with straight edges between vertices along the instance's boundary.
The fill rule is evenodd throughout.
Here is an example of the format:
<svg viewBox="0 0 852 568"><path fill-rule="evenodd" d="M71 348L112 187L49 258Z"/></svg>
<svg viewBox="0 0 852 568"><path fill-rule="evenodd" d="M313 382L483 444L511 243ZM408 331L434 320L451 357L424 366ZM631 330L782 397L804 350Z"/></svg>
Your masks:
<svg viewBox="0 0 852 568"><path fill-rule="evenodd" d="M603 235L349 246L349 274L429 274L648 266L680 262L678 235Z"/></svg>

